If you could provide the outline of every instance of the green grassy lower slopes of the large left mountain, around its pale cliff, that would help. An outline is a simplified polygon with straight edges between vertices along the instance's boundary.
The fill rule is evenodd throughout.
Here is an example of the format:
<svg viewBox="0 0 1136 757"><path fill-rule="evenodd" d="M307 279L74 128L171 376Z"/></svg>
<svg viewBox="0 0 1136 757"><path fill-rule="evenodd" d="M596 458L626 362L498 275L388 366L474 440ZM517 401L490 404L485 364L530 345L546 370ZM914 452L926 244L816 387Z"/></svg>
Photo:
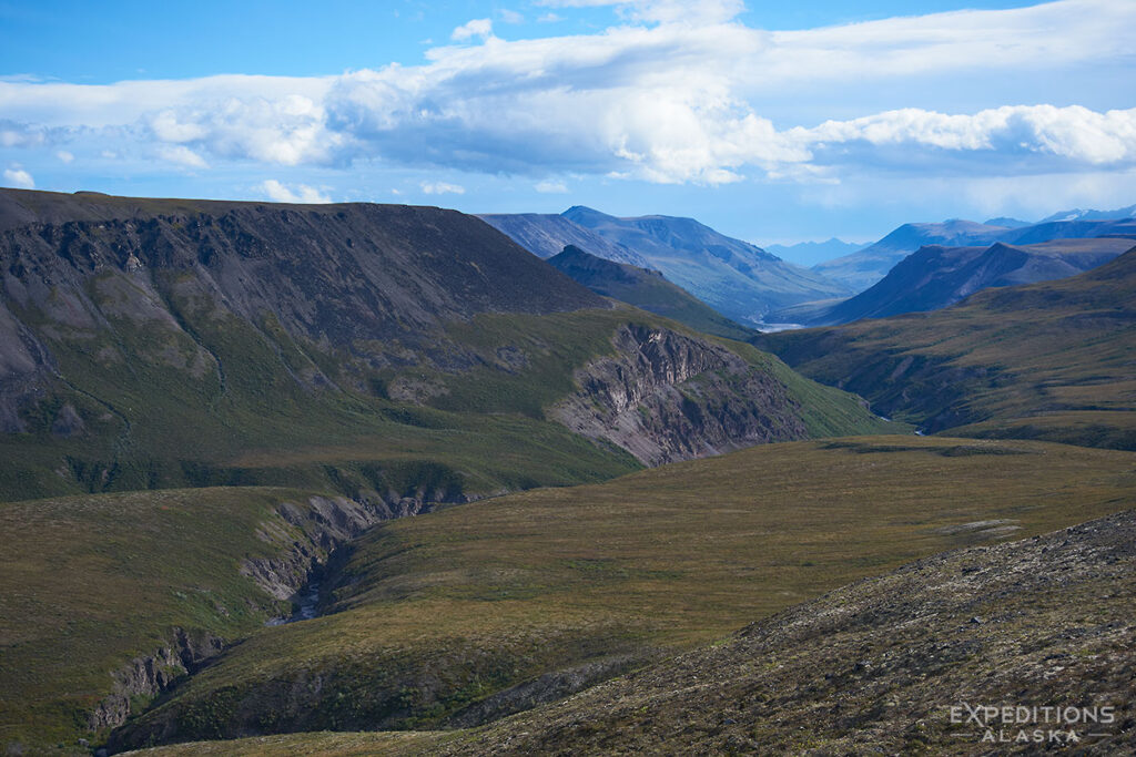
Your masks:
<svg viewBox="0 0 1136 757"><path fill-rule="evenodd" d="M311 345L273 331L270 323L257 328L189 305L179 314L194 339L208 345L200 377L168 356L194 354L198 346L187 337L126 319L115 322L114 335L51 344L74 388L30 411L34 432L0 437L8 461L0 470L0 497L202 485L352 494L376 487L361 466L387 471L407 461L449 466L467 494L612 478L638 464L545 421L543 409L573 389L575 368L612 352L610 337L623 323L685 330L628 308L452 322L446 336L476 355L474 365L414 365L385 375L386 385L428 386L435 394L425 398L432 406L423 407L359 392L304 389L290 372L318 358ZM818 388L747 345L728 344L752 363L772 367L807 418L819 420L809 426L818 435L887 430L850 395ZM111 350L125 358L91 358ZM61 439L50 427L65 401L98 420Z"/></svg>

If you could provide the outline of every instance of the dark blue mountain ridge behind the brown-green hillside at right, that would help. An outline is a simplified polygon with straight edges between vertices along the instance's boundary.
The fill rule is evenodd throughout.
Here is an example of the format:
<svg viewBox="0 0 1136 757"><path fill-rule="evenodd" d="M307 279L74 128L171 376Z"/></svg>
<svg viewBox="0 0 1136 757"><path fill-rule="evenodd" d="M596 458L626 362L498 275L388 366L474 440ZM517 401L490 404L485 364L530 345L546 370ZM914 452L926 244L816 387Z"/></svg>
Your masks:
<svg viewBox="0 0 1136 757"><path fill-rule="evenodd" d="M1102 237L1020 246L995 242L988 247L920 247L867 291L801 322L827 326L938 310L979 289L1075 276L1134 246L1136 238Z"/></svg>

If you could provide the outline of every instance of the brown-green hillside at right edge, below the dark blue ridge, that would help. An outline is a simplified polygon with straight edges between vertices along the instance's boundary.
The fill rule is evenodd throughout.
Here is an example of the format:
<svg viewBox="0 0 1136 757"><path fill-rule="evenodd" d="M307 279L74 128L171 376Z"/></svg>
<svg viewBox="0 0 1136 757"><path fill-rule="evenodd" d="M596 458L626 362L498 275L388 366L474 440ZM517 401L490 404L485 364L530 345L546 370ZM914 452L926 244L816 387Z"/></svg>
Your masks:
<svg viewBox="0 0 1136 757"><path fill-rule="evenodd" d="M1136 449L1136 251L932 313L766 335L758 344L929 432Z"/></svg>

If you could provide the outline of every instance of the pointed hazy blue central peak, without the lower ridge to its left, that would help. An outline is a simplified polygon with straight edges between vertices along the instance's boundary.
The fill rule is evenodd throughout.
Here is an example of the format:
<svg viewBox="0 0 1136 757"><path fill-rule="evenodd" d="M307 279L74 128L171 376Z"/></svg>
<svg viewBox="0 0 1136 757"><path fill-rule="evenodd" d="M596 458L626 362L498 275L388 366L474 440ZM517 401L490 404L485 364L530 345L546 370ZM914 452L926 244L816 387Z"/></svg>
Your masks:
<svg viewBox="0 0 1136 757"><path fill-rule="evenodd" d="M847 293L838 284L691 218L616 218L580 205L569 208L563 217L634 250L650 268L741 323L760 323L779 306Z"/></svg>

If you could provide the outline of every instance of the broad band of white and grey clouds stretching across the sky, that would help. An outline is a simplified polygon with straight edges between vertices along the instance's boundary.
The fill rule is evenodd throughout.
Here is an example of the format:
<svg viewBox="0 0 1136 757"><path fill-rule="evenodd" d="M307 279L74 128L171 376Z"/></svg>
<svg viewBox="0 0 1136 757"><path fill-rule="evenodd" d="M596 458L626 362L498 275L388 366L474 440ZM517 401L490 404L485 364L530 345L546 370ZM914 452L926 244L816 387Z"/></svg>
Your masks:
<svg viewBox="0 0 1136 757"><path fill-rule="evenodd" d="M0 148L83 138L92 148L85 154L112 148L201 170L225 161L381 161L524 175L548 186L556 182L546 177L571 174L713 185L753 175L834 182L849 166L1054 173L1136 162L1134 110L878 108L825 113L828 120L768 112L774 95L800 99L805 85L854 82L863 92L963 70L1036 77L1056 66L1121 65L1130 59L1136 3L1061 0L772 33L742 24L740 0L540 5L612 6L624 23L504 41L491 19L473 19L453 31L460 44L431 50L425 65L328 77L0 81L9 119L0 121ZM1114 89L1125 84L1131 79Z"/></svg>

